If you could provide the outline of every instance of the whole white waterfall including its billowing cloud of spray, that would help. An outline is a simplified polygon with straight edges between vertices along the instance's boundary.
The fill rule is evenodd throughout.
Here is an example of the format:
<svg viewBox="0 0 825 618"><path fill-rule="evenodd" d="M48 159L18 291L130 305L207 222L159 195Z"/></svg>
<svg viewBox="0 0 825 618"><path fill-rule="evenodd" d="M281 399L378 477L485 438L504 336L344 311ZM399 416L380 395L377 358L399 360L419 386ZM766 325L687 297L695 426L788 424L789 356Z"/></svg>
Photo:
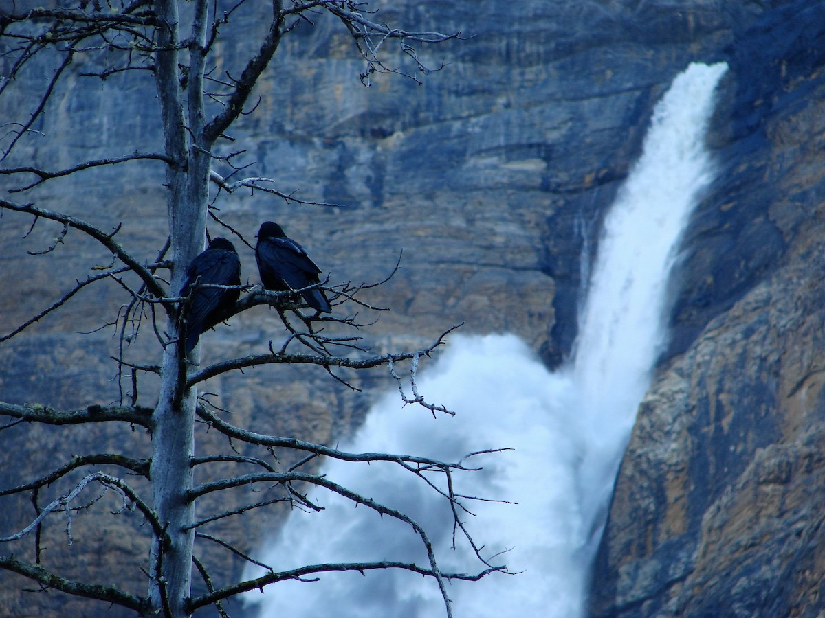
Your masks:
<svg viewBox="0 0 825 618"><path fill-rule="evenodd" d="M373 406L341 447L443 461L513 449L474 457L468 463L482 471L455 475L458 493L507 501L465 500L477 517L464 521L489 562L514 573L448 583L456 618L582 614L615 471L665 341L667 276L681 230L711 179L704 139L714 87L726 68L691 64L657 105L643 155L606 217L571 363L548 372L513 335L452 338L419 390L455 410L455 418L400 408L396 391ZM327 461L323 472L422 524L441 569L479 570L460 537L451 549L445 501L399 466ZM314 499L324 511L295 511L266 541L266 564L280 570L391 559L427 566L408 526L335 494L315 492ZM276 583L246 601L260 605L261 618L445 615L436 582L400 570Z"/></svg>

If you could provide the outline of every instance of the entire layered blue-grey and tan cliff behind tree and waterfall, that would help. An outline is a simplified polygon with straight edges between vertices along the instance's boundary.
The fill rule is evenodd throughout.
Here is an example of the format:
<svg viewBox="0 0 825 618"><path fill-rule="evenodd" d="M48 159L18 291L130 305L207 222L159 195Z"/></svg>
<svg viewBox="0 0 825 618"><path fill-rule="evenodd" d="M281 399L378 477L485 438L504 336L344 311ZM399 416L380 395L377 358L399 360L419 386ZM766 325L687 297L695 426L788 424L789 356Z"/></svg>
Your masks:
<svg viewBox="0 0 825 618"><path fill-rule="evenodd" d="M809 2L718 0L389 4L379 3L385 21L473 38L422 49L428 66L446 66L421 86L384 76L365 88L347 33L329 16L301 24L285 37L257 88L260 105L233 128L224 153L245 151L238 163L254 163L251 174L342 207L235 194L218 200L221 218L250 240L263 220L283 223L332 283L383 279L403 249L398 274L370 297L393 308L367 335L376 349L427 344L465 321L465 332L521 335L553 366L576 335L582 242L595 241L653 105L687 63L727 61L710 138L723 171L686 235L672 343L618 476L591 611L816 615L825 606L821 11ZM263 27L255 7L242 9L230 23L231 45L220 49L221 71L243 62ZM80 77L84 63L98 61L75 63L36 127L45 138L27 142L9 166L59 169L160 149L152 83ZM50 74L39 71L33 88ZM12 103L3 109L28 109L25 98ZM120 241L153 260L165 240L162 183L162 166L144 162L33 193L45 207L100 227L122 222ZM109 260L73 234L50 255L26 255L59 232L40 222L21 240L30 224L13 213L0 220L3 333ZM236 246L243 279L257 282L252 250ZM111 319L121 302L112 283L0 345L2 400L68 407L116 399L111 330L78 330ZM277 317L258 307L206 334L205 358L262 351L281 332ZM151 342L140 345L144 361L157 353ZM393 386L385 375L354 379L366 395L296 368L224 377L209 390L236 412L236 424L334 442L357 424L370 389ZM152 383L142 389L141 403L151 405ZM2 438L14 448L2 449L0 466L27 478L54 453L106 452L124 440L148 456L147 436L85 431L12 428ZM225 447L205 431L197 439L206 452ZM26 508L17 505L15 522ZM145 555L124 531L140 522L123 519L88 532L120 538L119 554L82 553L80 524L73 547L55 524L50 552L105 581L116 564ZM268 522L243 523L221 533L248 549ZM238 572L222 553L207 559ZM136 592L141 577L136 572ZM15 616L82 615L87 607L21 593L20 581L0 579L0 606Z"/></svg>

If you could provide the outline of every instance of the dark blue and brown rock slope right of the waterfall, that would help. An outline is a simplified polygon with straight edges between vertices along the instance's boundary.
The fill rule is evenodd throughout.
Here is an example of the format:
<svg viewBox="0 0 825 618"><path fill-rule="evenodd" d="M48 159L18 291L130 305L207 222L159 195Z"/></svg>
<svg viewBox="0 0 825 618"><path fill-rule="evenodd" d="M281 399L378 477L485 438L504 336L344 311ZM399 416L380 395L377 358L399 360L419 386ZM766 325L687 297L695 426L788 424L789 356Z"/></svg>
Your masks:
<svg viewBox="0 0 825 618"><path fill-rule="evenodd" d="M804 2L734 29L724 171L688 234L678 354L616 481L594 616L825 608L823 43L825 19Z"/></svg>

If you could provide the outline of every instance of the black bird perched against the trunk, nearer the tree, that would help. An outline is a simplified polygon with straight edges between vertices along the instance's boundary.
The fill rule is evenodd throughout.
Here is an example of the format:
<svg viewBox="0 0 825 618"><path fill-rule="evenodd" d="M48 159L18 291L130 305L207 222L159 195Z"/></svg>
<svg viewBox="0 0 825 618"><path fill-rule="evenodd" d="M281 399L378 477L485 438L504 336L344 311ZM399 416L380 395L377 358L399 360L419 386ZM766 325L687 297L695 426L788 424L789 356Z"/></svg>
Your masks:
<svg viewBox="0 0 825 618"><path fill-rule="evenodd" d="M193 286L240 285L241 260L235 246L225 238L214 238L206 250L186 269L181 297L189 296ZM200 335L229 317L240 290L198 288L186 313L186 353L197 345Z"/></svg>

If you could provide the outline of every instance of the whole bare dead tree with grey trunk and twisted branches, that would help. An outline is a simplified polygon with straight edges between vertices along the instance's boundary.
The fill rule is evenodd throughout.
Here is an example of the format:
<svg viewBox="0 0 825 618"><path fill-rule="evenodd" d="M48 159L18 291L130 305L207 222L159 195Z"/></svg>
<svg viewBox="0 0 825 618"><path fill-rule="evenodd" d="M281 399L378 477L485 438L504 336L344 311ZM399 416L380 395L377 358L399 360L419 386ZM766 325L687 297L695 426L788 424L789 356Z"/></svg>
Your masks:
<svg viewBox="0 0 825 618"><path fill-rule="evenodd" d="M457 35L415 32L389 26L381 21L377 12L371 12L365 2L273 0L267 17L268 28L256 53L247 59L240 73L217 75L213 58L216 44L221 39L224 26L245 3L244 0L225 5L218 0L87 0L58 2L52 7L35 9L14 7L0 15L0 50L4 63L0 96L12 96L15 88L25 83L19 78L32 67L46 67L43 70L50 75L43 82L41 91L24 93L26 100L31 101L31 109L21 119L7 120L4 125L4 134L0 138L0 161L12 161L12 152L23 147L31 134L36 133L37 123L52 104L52 97L59 90L61 80L72 72L73 63L78 58L87 55L106 54L105 66L90 70L88 63L83 65L82 70L86 71L87 77L106 80L115 74L132 73L152 76L157 87L158 122L163 133L163 149L159 152L118 154L76 162L57 170L33 165L7 166L0 170L0 174L9 180L6 183L7 195L0 199L0 207L31 217L32 227L40 220L56 222L62 227L62 232L50 246L45 247L43 254L50 254L64 241L69 231L78 231L99 243L112 256L111 265L98 267L87 279L78 280L50 306L44 307L12 331L0 335L0 343L9 341L35 322L59 311L74 295L95 288L98 283L114 281L125 294L125 301L118 316L108 322L120 334L120 353L113 362L118 376L127 376L129 379L126 382L130 384L129 387L121 387L120 400L111 405L59 410L50 405L0 403L0 414L12 419L2 428L11 428L23 422L49 425L115 423L124 424L133 431L142 428L151 437L149 457L134 456L129 452L85 453L56 464L52 471L39 478L2 489L0 496L31 496L34 514L23 529L0 532L6 535L0 538L4 543L24 537L32 539L27 557L0 555L0 566L33 580L41 588L54 588L123 606L140 615L175 617L189 616L205 606L216 606L219 613L225 616L223 602L229 597L283 579L305 578L330 570L364 572L370 569L408 569L436 580L444 598L446 613L450 616L446 580L478 579L505 567L491 564L477 549L481 562L474 573L442 572L427 532L417 522L404 513L314 473L310 464L318 456L345 461L396 463L410 474L421 477L449 501L455 514L456 531L476 548L464 527L464 517L469 513L466 506L468 499L459 498L452 478L455 471L472 469L468 461L342 452L320 444L255 433L252 428L229 423L224 414L227 410L211 405L210 399L199 394L198 388L210 377L243 368L306 363L325 369L333 379L344 383L347 379L339 374L341 369L384 366L398 380L403 394L409 386L404 388L397 371L398 363L410 363L408 379L413 395L405 396L405 401L425 405L433 414L445 414L448 412L443 407L428 403L418 394L415 376L418 359L429 356L444 342L445 335L451 329L424 349L370 355L360 344L360 335L357 335L363 324L356 317L357 311L349 309L380 310L361 300L360 294L369 286L350 283L329 286L328 282L323 282L324 289L332 298L334 312L332 316L318 316L307 311L292 293L273 293L245 285L239 286L243 295L235 311L261 304L274 307L285 325L285 339L280 344L270 342L266 353L228 358L201 367L200 345L187 356L180 344L181 328L185 328L191 295L181 297L179 291L185 281L186 266L203 250L208 218L223 225L228 234L249 244L243 234L219 218L211 208L216 194L246 188L266 191L295 204L314 204L282 193L271 179L250 176L232 180L229 175L222 175L215 169L216 162L220 162L233 174L241 171L241 167L233 163L235 153L219 154L217 144L230 139L226 132L236 120L254 111L255 105L250 101L253 88L285 35L299 25L311 25L321 13L332 14L348 30L357 53L361 54L365 63L361 81L367 86L376 73L403 73L413 78L417 78L415 74L427 73L430 69L418 59L417 49L422 44L439 43ZM388 51L391 45L397 45L395 51ZM413 70L403 68L403 63L390 61L398 58L407 59L408 63L412 63L409 66ZM94 63L91 65L95 66ZM165 168L168 238L151 258L135 253L125 243L121 244L117 237L120 227L106 230L96 222L45 208L27 197L28 194L36 196L36 192L31 192L53 179L110 166L135 165L137 162L153 162ZM211 195L210 186L213 188ZM19 199L21 196L23 199ZM151 329L155 335L158 358L154 363L152 359L145 358L138 362L129 356L130 342L141 328ZM347 333L346 329L353 331ZM158 400L155 405L138 405L139 383L144 376L158 377ZM193 430L197 421L223 434L227 438L229 451L220 456L197 456ZM233 445L241 442L257 447L260 452L253 456L239 454ZM275 456L276 448L292 449L304 453L304 456L299 457L294 465L284 467ZM237 464L239 469L252 472L196 482L196 468L214 461ZM101 467L114 472L101 471ZM442 480L437 481L436 477ZM282 492L274 499L243 503L223 512L196 517L195 507L200 499L251 484L278 485ZM205 525L266 508L276 502L317 509L317 505L306 497L304 488L308 485L328 489L351 499L353 503L406 522L416 531L426 548L428 563L322 564L289 572L277 572L270 568L268 574L261 578L215 587L214 578L194 555L197 540L217 543L234 555L253 560L230 543L203 532ZM60 494L45 503L42 495L47 493L47 489L59 486L64 487ZM120 503L120 508L115 509L117 513L137 512L147 524L144 529L151 538L151 549L144 566L148 581L145 594L127 592L116 581L89 583L64 577L50 570L43 559L40 531L44 522L62 513L67 522L66 535L71 541L73 513L93 508L107 495L115 496ZM208 589L198 597L191 594L193 569L200 574Z"/></svg>

